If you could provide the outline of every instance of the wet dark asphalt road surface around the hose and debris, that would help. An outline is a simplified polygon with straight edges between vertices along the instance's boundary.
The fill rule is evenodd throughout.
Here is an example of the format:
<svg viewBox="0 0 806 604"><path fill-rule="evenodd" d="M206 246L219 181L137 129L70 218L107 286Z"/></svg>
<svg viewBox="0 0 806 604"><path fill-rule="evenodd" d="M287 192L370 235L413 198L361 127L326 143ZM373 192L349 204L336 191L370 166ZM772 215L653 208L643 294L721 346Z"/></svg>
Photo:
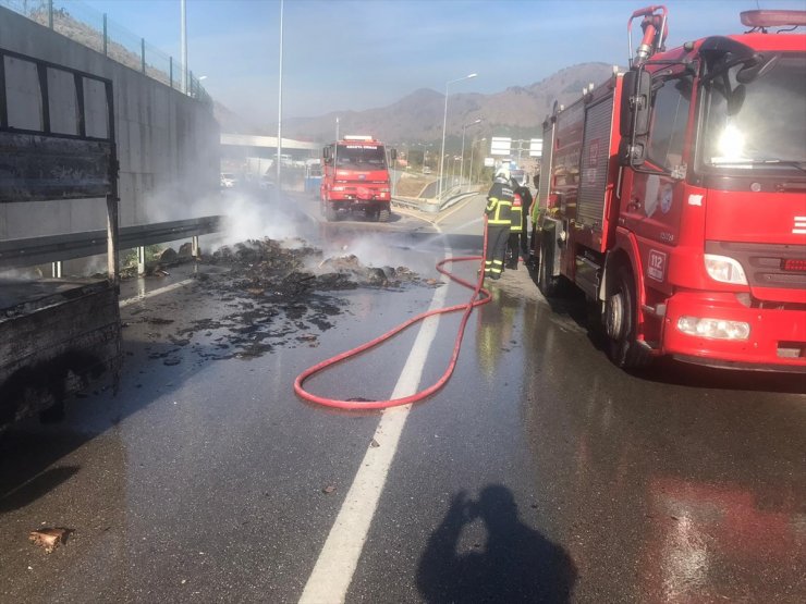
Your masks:
<svg viewBox="0 0 806 604"><path fill-rule="evenodd" d="M481 247L480 197L437 224L403 211L321 224L315 202L291 204L294 234L327 254L423 278ZM469 292L341 291L327 320L279 309L270 349L234 355L248 303L194 270L215 269L124 284L117 394L96 384L63 422L0 436L0 601L806 599L803 378L625 373L584 305L547 303L522 267L474 311L441 392L335 411L300 400L294 377ZM307 385L358 399L424 387L457 324L410 329ZM40 526L73 532L46 554L27 540Z"/></svg>

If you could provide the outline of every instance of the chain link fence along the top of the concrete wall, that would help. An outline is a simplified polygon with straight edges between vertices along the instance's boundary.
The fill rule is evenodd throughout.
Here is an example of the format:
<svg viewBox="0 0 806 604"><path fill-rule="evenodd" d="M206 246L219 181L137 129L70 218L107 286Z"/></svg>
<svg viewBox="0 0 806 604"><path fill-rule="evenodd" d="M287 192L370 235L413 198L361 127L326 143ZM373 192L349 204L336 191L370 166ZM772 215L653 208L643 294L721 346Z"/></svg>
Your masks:
<svg viewBox="0 0 806 604"><path fill-rule="evenodd" d="M187 89L184 90L181 62L78 0L0 0L0 7L212 106L212 99L193 72L187 73Z"/></svg>

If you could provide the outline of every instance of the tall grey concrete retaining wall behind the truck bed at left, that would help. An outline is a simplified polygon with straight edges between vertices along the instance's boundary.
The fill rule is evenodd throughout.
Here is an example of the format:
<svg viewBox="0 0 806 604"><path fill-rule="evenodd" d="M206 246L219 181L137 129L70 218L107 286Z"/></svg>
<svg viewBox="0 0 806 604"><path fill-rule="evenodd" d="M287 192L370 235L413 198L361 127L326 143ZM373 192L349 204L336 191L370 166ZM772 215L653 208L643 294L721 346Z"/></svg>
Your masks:
<svg viewBox="0 0 806 604"><path fill-rule="evenodd" d="M220 130L211 107L3 8L0 47L112 81L122 226L220 213ZM54 130L74 122L73 91L64 93L71 82L49 82ZM7 94L10 122L14 115L20 124L35 125L38 83L24 64L7 70ZM89 134L102 130L106 118L101 107L87 100ZM0 205L0 239L105 226L102 199Z"/></svg>

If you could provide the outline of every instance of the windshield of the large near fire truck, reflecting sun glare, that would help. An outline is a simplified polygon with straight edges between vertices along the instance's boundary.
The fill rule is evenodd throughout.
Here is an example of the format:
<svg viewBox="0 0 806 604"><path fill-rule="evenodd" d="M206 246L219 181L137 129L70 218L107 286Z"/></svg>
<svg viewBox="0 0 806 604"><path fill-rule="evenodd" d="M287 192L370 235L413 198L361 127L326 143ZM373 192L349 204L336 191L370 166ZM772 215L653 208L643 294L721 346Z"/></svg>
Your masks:
<svg viewBox="0 0 806 604"><path fill-rule="evenodd" d="M703 163L710 170L806 167L806 54L778 54L746 84L734 65L705 86ZM738 76L742 79L742 76Z"/></svg>

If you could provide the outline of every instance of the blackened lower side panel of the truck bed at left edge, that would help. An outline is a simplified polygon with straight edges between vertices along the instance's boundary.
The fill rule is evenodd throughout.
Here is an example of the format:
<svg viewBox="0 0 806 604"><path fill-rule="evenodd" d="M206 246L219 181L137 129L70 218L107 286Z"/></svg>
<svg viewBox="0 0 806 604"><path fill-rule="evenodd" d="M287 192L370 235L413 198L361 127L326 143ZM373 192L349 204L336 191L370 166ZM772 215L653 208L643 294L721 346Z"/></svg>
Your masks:
<svg viewBox="0 0 806 604"><path fill-rule="evenodd" d="M0 431L121 365L118 291L107 280L0 280Z"/></svg>

